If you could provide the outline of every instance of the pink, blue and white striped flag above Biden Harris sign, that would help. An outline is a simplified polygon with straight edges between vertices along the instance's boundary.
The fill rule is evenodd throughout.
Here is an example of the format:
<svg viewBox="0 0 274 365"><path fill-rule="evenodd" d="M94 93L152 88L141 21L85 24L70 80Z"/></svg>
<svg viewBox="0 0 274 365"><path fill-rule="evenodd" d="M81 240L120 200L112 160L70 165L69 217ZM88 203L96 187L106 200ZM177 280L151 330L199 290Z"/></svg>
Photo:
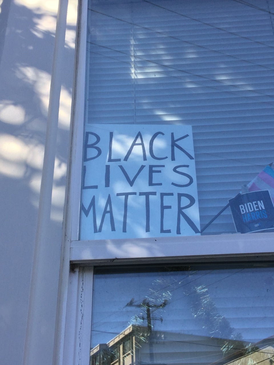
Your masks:
<svg viewBox="0 0 274 365"><path fill-rule="evenodd" d="M272 164L271 164L272 165ZM249 184L248 191L268 190L274 204L274 170L267 165Z"/></svg>

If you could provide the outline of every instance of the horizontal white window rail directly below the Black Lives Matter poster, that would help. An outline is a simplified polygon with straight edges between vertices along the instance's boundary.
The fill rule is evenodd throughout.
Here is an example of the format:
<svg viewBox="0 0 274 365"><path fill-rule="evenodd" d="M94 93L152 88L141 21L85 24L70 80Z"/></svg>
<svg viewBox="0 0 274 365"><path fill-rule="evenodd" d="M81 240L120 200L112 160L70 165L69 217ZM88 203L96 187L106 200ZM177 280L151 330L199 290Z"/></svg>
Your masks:
<svg viewBox="0 0 274 365"><path fill-rule="evenodd" d="M72 241L71 262L273 252L273 233L131 240Z"/></svg>

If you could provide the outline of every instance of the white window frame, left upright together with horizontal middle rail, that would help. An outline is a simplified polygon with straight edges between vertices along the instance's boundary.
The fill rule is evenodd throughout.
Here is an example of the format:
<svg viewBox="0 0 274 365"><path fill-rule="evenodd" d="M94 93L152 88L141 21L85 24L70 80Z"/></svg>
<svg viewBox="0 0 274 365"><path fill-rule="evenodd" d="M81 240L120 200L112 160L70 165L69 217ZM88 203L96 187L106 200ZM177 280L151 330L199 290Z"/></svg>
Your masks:
<svg viewBox="0 0 274 365"><path fill-rule="evenodd" d="M60 284L59 365L89 365L92 265L273 260L274 233L79 240L85 103L87 0L80 0L71 166ZM68 277L68 263L71 265ZM61 345L60 345L61 344Z"/></svg>

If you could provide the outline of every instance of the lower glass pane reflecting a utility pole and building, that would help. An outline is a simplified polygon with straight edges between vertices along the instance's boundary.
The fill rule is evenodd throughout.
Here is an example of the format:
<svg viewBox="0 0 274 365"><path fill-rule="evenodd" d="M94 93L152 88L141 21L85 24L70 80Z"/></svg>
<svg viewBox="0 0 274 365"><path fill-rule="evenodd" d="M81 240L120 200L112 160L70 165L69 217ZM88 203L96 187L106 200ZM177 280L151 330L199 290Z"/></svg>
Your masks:
<svg viewBox="0 0 274 365"><path fill-rule="evenodd" d="M273 306L266 264L98 268L91 364L270 365Z"/></svg>

